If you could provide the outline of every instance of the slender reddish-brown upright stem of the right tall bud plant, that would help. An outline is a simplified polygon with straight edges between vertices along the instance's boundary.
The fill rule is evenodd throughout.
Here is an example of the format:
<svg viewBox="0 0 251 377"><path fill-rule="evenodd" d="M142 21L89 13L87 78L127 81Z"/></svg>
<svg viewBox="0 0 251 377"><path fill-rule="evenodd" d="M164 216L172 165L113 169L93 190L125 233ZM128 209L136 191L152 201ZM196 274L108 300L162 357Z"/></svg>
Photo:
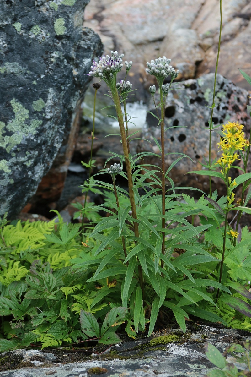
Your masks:
<svg viewBox="0 0 251 377"><path fill-rule="evenodd" d="M165 146L164 146L164 114L165 114L165 103L164 103L164 97L160 85L160 101L161 101L161 123L160 123L160 130L161 130L161 180L162 180L162 229L165 228L165 213L166 213L166 207L165 207L165 199L166 199L166 189L165 189ZM161 253L165 254L165 232L162 232L163 239L162 239L162 246L161 246ZM161 268L164 268L164 261L161 259Z"/></svg>

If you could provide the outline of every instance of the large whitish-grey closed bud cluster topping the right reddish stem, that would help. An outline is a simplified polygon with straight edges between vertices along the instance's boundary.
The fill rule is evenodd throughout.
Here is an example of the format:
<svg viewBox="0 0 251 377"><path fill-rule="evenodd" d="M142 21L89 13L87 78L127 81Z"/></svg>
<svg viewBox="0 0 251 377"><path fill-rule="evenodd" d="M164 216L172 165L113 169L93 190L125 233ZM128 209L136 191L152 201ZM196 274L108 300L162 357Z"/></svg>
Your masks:
<svg viewBox="0 0 251 377"><path fill-rule="evenodd" d="M163 58L158 58L155 60L151 60L151 63L146 63L148 68L146 69L146 72L148 72L150 75L154 75L157 80L160 80L163 82L164 78L167 76L171 76L172 80L174 80L178 74L179 71L173 69L172 66L170 66L171 59L167 59L165 56Z"/></svg>

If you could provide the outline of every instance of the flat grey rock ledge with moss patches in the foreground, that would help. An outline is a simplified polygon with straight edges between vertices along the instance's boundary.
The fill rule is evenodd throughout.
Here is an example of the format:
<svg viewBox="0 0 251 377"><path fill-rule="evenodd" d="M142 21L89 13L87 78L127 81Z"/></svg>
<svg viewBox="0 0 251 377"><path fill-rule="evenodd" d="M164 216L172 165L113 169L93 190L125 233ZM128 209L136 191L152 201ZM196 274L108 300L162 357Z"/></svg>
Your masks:
<svg viewBox="0 0 251 377"><path fill-rule="evenodd" d="M5 352L0 355L1 377L204 377L214 368L205 356L205 343L223 353L231 343L242 344L251 336L218 323L189 324L185 334L176 327L108 349L97 346ZM232 357L231 362L237 359Z"/></svg>

